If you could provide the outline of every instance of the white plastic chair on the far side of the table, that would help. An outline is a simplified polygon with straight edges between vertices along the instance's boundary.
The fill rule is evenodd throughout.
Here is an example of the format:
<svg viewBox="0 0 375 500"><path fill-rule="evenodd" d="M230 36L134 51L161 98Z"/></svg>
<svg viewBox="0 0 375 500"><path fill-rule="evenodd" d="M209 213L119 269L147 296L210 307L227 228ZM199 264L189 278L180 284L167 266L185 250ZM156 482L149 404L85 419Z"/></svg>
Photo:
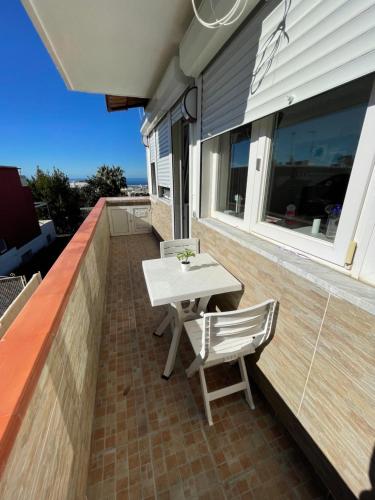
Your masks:
<svg viewBox="0 0 375 500"><path fill-rule="evenodd" d="M160 257L162 259L166 257L174 257L178 253L182 252L185 248L189 248L189 250L192 250L195 253L199 253L199 239L198 238L184 238L184 239L179 239L179 240L167 240L167 241L161 241L160 242ZM181 303L181 307L186 315L187 318L192 319L197 316L197 313L195 312L195 301L194 300L187 300ZM172 307L168 307L168 312L166 316L164 317L163 321L160 323L160 325L157 327L157 329L154 332L154 335L157 337L161 337L171 322L173 317L173 310Z"/></svg>

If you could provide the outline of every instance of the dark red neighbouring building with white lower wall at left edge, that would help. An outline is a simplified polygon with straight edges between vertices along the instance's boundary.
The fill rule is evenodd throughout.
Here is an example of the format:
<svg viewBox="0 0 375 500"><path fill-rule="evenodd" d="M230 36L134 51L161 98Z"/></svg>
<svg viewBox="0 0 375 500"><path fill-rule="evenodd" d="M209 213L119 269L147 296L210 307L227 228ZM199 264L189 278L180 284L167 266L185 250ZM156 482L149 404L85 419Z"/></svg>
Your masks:
<svg viewBox="0 0 375 500"><path fill-rule="evenodd" d="M51 220L38 221L31 189L17 167L0 166L0 275L7 275L55 238Z"/></svg>

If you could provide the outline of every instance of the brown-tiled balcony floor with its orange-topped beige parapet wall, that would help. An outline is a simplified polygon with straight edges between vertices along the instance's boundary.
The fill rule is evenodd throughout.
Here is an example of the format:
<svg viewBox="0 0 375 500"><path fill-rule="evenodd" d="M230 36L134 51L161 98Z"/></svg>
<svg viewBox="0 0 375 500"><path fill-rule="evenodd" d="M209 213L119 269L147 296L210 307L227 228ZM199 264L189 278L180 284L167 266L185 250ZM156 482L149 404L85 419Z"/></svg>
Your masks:
<svg viewBox="0 0 375 500"><path fill-rule="evenodd" d="M0 497L322 498L256 387L255 411L229 396L209 427L185 338L161 378L170 337L152 335L165 311L151 307L141 266L158 256L151 233L111 238L100 200L7 331ZM238 376L228 364L207 378L218 388Z"/></svg>

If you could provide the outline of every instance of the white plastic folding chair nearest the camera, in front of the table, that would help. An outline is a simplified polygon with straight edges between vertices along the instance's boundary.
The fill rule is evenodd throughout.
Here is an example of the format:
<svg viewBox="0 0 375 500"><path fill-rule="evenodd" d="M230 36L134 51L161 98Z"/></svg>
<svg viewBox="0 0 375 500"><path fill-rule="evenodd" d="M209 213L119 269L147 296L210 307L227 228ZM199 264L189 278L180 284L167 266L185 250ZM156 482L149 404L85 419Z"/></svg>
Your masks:
<svg viewBox="0 0 375 500"><path fill-rule="evenodd" d="M199 371L204 406L212 425L210 401L245 391L248 405L255 408L247 376L244 356L252 354L270 336L276 301L268 300L238 311L206 313L203 318L184 323L196 358L186 370L188 377ZM221 363L239 362L242 381L208 392L204 368Z"/></svg>

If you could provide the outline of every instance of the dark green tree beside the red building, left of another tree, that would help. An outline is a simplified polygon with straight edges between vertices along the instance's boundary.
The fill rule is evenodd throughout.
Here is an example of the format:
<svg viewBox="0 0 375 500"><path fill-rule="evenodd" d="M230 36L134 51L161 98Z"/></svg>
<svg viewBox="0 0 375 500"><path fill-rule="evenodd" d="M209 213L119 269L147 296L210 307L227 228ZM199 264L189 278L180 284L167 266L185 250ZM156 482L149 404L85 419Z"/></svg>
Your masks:
<svg viewBox="0 0 375 500"><path fill-rule="evenodd" d="M70 187L68 176L56 168L50 173L37 167L35 176L28 179L28 184L35 201L48 203L56 232L75 232L82 220L80 194Z"/></svg>

